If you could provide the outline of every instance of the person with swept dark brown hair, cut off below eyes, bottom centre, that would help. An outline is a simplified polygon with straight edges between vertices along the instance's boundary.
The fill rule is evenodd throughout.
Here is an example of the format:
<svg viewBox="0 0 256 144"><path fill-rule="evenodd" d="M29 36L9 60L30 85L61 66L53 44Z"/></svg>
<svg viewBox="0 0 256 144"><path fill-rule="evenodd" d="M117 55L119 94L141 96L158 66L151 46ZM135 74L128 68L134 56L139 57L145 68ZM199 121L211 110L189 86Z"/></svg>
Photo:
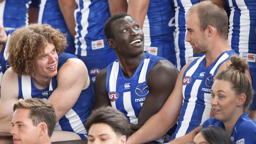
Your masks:
<svg viewBox="0 0 256 144"><path fill-rule="evenodd" d="M88 144L126 144L130 125L123 113L113 107L100 107L87 119Z"/></svg>

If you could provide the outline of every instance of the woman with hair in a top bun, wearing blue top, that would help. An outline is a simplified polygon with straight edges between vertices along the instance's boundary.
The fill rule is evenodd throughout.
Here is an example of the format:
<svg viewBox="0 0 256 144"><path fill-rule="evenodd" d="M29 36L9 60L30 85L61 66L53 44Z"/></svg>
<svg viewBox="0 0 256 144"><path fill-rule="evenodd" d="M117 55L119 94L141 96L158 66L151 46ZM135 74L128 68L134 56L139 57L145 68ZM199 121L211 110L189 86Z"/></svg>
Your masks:
<svg viewBox="0 0 256 144"><path fill-rule="evenodd" d="M187 135L173 140L170 144L192 141L198 129L216 126L225 129L233 144L254 144L256 142L256 121L246 111L252 101L252 85L245 75L249 65L238 56L230 58L231 65L215 76L211 87L211 106L215 117Z"/></svg>

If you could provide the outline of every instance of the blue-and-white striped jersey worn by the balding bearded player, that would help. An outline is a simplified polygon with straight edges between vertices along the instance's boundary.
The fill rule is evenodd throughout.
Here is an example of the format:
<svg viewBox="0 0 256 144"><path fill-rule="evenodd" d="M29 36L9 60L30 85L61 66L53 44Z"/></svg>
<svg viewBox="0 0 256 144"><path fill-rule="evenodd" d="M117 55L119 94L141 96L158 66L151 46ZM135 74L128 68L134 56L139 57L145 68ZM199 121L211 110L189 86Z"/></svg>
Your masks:
<svg viewBox="0 0 256 144"><path fill-rule="evenodd" d="M207 68L203 55L195 59L184 71L182 81L183 105L178 126L173 137L181 137L210 118L211 86L219 66L234 55L234 50L225 51Z"/></svg>

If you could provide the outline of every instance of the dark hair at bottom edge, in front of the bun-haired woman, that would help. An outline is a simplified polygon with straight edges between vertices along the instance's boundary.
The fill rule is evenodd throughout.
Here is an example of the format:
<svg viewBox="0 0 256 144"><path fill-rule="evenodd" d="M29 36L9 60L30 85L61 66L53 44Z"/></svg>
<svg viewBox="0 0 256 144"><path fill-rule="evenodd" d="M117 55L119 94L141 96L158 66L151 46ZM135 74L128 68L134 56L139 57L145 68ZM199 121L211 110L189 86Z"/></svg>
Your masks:
<svg viewBox="0 0 256 144"><path fill-rule="evenodd" d="M201 133L210 144L233 144L228 133L219 127L206 127L200 129L198 133Z"/></svg>

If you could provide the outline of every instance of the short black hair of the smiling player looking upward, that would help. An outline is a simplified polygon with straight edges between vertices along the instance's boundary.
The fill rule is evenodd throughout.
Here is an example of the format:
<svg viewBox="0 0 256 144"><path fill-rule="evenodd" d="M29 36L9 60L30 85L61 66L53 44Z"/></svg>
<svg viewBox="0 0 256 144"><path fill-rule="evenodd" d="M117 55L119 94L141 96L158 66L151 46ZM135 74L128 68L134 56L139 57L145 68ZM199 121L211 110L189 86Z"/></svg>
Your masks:
<svg viewBox="0 0 256 144"><path fill-rule="evenodd" d="M127 13L117 13L115 15L113 15L112 17L108 18L108 20L106 21L105 25L104 25L104 33L107 39L111 39L114 38L114 35L112 33L112 23L119 19L119 18L123 18L126 16L130 16ZM131 16L130 16L131 17Z"/></svg>

